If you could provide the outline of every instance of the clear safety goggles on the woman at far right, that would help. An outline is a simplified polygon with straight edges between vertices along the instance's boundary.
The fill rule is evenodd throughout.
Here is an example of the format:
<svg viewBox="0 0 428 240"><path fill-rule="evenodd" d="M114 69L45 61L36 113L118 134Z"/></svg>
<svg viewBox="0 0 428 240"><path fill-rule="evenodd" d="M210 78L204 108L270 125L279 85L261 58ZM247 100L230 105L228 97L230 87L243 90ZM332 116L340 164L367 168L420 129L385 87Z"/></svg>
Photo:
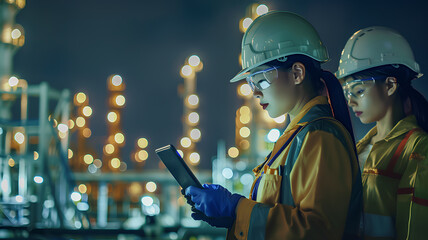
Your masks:
<svg viewBox="0 0 428 240"><path fill-rule="evenodd" d="M350 82L342 84L343 94L347 101L354 97L356 99L364 97L365 94L375 85L377 79L384 77L371 77L365 79L355 79Z"/></svg>

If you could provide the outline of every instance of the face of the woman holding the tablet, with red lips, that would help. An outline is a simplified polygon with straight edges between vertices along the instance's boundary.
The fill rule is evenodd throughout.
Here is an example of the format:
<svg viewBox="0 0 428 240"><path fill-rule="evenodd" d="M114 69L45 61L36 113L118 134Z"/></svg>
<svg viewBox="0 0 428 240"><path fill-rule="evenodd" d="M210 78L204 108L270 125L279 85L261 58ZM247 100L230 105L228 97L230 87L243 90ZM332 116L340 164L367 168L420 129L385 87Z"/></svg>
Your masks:
<svg viewBox="0 0 428 240"><path fill-rule="evenodd" d="M252 73L268 70L268 65L256 68ZM276 69L276 74L257 74L252 81L259 88L254 89L253 95L260 99L260 105L271 118L279 117L293 109L296 103L293 73L283 68ZM270 79L267 79L270 78ZM267 88L265 88L268 86ZM264 88L264 89L263 89Z"/></svg>

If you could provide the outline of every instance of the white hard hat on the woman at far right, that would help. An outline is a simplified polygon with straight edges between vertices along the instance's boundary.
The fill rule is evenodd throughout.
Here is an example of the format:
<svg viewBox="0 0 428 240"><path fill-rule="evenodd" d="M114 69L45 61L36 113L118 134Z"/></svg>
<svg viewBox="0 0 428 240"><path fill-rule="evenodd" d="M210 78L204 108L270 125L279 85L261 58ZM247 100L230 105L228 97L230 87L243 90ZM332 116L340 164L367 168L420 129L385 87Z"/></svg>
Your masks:
<svg viewBox="0 0 428 240"><path fill-rule="evenodd" d="M337 78L389 64L402 64L422 76L407 40L387 27L368 27L354 33L342 51Z"/></svg>

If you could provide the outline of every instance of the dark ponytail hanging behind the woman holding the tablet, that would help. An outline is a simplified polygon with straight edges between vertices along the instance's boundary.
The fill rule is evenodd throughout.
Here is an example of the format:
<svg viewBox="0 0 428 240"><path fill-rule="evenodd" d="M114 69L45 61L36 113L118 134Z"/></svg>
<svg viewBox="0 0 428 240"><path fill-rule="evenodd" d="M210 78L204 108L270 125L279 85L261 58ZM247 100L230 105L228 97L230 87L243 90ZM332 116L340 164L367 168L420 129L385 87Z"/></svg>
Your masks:
<svg viewBox="0 0 428 240"><path fill-rule="evenodd" d="M349 116L349 108L343 95L342 85L333 73L322 70L321 78L324 80L326 86L328 100L330 102L333 117L345 126L349 134L351 134L352 141L355 145L354 131L352 129L351 117Z"/></svg>

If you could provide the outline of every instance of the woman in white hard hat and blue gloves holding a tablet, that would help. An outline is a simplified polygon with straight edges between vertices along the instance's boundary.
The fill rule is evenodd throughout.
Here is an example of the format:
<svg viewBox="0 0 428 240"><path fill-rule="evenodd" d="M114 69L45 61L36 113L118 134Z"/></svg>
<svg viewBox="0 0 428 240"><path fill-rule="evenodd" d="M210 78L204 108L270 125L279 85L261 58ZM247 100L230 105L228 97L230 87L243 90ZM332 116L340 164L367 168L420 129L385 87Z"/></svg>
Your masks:
<svg viewBox="0 0 428 240"><path fill-rule="evenodd" d="M242 40L244 80L272 118L290 124L253 171L249 198L219 185L188 187L192 214L226 227L228 239L356 239L361 176L339 81L313 26L290 12L254 20ZM328 97L323 92L328 92ZM200 212L199 212L200 211Z"/></svg>

